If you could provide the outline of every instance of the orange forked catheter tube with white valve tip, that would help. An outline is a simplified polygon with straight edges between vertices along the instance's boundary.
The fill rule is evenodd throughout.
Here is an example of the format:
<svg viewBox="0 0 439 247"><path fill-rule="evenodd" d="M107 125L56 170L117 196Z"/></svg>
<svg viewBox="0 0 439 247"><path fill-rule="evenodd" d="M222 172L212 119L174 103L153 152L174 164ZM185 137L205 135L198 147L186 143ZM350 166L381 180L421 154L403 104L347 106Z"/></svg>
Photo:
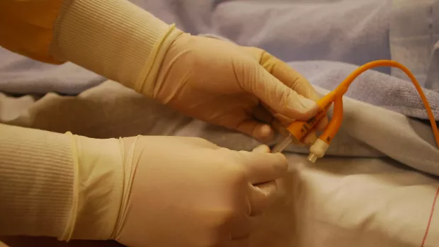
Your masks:
<svg viewBox="0 0 439 247"><path fill-rule="evenodd" d="M333 104L333 117L331 121L329 122L328 127L326 127L326 130L324 130L323 134L320 135L320 137L312 144L312 146L309 148L309 156L308 160L314 163L317 161L317 159L324 156L326 153L326 150L329 148L329 144L331 144L331 141L333 137L336 136L338 130L341 127L341 121L343 120L343 95L348 91L348 88L350 84L353 82L357 76L362 74L364 71L368 69L373 69L375 67L396 67L398 69L401 69L406 73L407 76L411 79L411 82L414 84L416 91L418 91L419 96L421 96L421 100L423 102L423 105L426 107L428 119L430 120L431 127L433 128L433 134L435 136L436 144L439 148L439 130L438 126L435 122L435 117L433 115L433 111L431 110L430 104L428 103L428 100L425 96L425 94L422 91L421 86L419 85L418 81L416 80L415 76L411 74L411 71L407 69L404 65L399 64L398 62L392 61L392 60L377 60L373 62L369 62L367 64L364 64L361 67L358 67L358 69L355 69L352 74L350 74L346 79L344 79L340 85L337 86L336 89L331 91L330 93L326 94L323 98L321 98L319 101L317 101L317 105L319 107L319 111L317 112L317 115L310 118L307 121L295 121L290 124L290 126L287 127L287 136L283 137L278 144L273 147L272 152L281 152L285 148L288 147L292 143L292 139L297 139L298 141L302 142L304 137L307 136L314 128L317 126L317 124L320 122L320 120L326 116L326 112L329 110L331 105Z"/></svg>

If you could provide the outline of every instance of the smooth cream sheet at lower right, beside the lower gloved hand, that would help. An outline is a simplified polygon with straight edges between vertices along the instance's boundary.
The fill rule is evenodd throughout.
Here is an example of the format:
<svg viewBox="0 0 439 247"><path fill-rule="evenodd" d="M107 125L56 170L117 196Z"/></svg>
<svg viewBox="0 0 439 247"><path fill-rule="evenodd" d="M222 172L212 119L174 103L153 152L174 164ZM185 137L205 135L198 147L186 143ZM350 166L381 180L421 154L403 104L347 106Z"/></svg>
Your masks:
<svg viewBox="0 0 439 247"><path fill-rule="evenodd" d="M385 159L331 158L310 165L288 154L282 197L250 247L419 247L439 182ZM439 209L436 209L439 210ZM439 243L439 214L423 247ZM0 238L2 239L2 238ZM113 242L8 238L11 247L115 247Z"/></svg>

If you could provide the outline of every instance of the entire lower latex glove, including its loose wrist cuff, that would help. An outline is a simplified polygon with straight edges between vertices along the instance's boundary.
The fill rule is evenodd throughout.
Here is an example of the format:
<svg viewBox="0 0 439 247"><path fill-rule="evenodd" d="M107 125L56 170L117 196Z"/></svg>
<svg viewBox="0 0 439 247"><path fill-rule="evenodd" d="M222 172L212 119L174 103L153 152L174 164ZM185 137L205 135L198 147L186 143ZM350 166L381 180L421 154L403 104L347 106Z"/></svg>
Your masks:
<svg viewBox="0 0 439 247"><path fill-rule="evenodd" d="M74 139L75 206L62 239L246 246L287 169L282 154L232 151L198 138Z"/></svg>

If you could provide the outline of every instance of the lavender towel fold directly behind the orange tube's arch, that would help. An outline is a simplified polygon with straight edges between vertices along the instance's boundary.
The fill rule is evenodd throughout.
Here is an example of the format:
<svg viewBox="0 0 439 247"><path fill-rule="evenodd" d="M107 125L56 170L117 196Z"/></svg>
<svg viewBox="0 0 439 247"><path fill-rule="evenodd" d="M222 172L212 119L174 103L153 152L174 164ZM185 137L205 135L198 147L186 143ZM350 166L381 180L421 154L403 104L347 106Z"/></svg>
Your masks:
<svg viewBox="0 0 439 247"><path fill-rule="evenodd" d="M328 61L291 62L289 64L312 84L329 90L336 88L343 79L357 69L357 66L353 64ZM431 105L435 120L439 121L439 91L423 88L423 92ZM379 71L365 71L358 76L349 87L346 96L394 110L409 117L428 119L426 108L411 81Z"/></svg>

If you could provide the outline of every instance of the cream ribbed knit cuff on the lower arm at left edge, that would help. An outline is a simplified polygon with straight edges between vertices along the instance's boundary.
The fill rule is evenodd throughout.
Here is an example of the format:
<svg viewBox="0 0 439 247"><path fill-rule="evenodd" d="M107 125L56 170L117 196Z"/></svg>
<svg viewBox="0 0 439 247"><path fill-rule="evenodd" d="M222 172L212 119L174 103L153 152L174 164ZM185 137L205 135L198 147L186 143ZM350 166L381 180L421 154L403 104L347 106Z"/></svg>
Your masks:
<svg viewBox="0 0 439 247"><path fill-rule="evenodd" d="M74 161L64 134L0 125L0 235L61 236Z"/></svg>

